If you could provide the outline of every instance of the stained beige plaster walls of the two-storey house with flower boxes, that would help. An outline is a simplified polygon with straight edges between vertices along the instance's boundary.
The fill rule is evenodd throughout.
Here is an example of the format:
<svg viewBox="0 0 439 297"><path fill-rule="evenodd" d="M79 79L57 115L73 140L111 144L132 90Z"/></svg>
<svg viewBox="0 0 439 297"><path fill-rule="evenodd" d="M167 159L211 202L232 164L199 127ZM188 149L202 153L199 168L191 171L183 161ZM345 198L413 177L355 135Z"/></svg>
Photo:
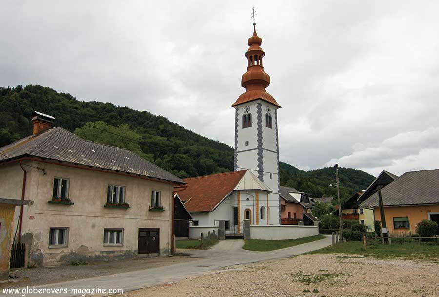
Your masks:
<svg viewBox="0 0 439 297"><path fill-rule="evenodd" d="M129 175L96 172L32 161L26 184L26 199L33 205L25 208L22 235L31 244L29 265L68 263L77 259L88 261L105 256L131 257L137 254L138 228L160 229L160 255L167 255L171 245L171 216L173 185ZM17 167L19 170L17 170ZM45 170L38 170L35 167ZM21 171L21 172L20 172ZM16 178L16 175L19 175ZM54 177L68 178L69 198L74 205L49 204ZM0 170L0 179L16 184L22 182L19 164ZM130 209L104 208L109 184L125 186L125 201ZM8 198L15 198L14 187L3 189ZM17 190L15 190L16 192ZM164 212L151 212L151 191L161 191ZM20 198L20 195L17 196ZM33 216L33 219L30 217ZM50 227L68 227L68 247L49 248ZM121 246L104 246L104 228L123 228Z"/></svg>

